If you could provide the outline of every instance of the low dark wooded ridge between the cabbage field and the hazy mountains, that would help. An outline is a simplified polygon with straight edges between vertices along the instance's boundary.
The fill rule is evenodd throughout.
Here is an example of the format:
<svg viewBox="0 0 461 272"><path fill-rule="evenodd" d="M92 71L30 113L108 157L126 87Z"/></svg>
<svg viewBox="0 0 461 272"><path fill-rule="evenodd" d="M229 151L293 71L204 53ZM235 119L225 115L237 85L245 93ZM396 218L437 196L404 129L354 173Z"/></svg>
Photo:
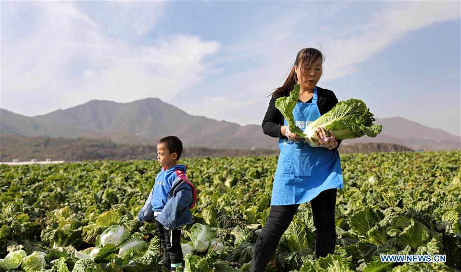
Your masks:
<svg viewBox="0 0 461 272"><path fill-rule="evenodd" d="M108 139L95 138L51 138L0 136L0 161L29 161L32 158L45 160L83 161L83 160L156 160L156 145L116 144ZM389 151L411 151L396 144L356 143L339 147L340 153L370 153ZM186 147L182 157L222 157L222 156L271 156L278 150L269 149L209 149Z"/></svg>

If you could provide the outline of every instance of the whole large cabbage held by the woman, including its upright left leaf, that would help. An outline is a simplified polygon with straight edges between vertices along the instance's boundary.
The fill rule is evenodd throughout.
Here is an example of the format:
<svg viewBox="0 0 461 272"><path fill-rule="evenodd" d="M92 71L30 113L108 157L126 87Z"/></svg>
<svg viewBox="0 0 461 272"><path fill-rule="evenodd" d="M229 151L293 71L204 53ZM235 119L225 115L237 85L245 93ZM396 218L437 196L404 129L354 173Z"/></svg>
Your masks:
<svg viewBox="0 0 461 272"><path fill-rule="evenodd" d="M277 98L275 108L277 108L287 120L290 131L299 137L305 138L311 147L318 147L318 139L315 135L317 128L325 128L333 132L336 139L354 139L367 135L375 137L383 126L373 124L375 120L373 114L367 108L364 101L350 98L340 101L326 114L320 116L315 121L307 125L304 132L296 127L293 117L293 109L299 97L299 85L295 85L290 92L290 96Z"/></svg>

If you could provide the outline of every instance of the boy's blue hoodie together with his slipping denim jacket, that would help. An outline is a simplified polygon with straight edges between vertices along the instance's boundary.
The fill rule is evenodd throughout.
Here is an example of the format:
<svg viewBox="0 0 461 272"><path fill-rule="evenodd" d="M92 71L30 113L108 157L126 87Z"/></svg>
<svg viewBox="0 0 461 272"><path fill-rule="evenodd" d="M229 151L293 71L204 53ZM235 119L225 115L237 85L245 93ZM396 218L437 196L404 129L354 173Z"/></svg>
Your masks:
<svg viewBox="0 0 461 272"><path fill-rule="evenodd" d="M178 174L185 174L186 171L186 166L182 164L168 170L162 168L155 178L146 204L139 212L139 221L153 220L154 211L161 211L155 220L169 229L192 223L192 214L189 211L193 202L192 189L186 182L176 179Z"/></svg>

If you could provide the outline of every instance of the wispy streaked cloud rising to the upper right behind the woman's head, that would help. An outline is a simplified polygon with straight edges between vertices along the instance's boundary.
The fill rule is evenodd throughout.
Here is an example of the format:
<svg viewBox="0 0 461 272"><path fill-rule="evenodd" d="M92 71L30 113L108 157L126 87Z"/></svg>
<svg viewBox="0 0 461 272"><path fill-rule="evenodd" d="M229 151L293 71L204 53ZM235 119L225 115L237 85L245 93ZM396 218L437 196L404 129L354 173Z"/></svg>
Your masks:
<svg viewBox="0 0 461 272"><path fill-rule="evenodd" d="M243 67L242 72L222 74L218 86L205 86L208 93L215 93L204 98L208 106L189 103L186 109L192 114L240 124L259 124L268 106L266 95L282 85L300 48L322 47L327 55L320 80L324 83L357 72L358 64L412 31L459 18L457 2L386 2L371 14L351 13L355 9L349 9L350 3L331 2L325 12L324 7L314 8L311 3L296 2L299 6L289 16L260 16L267 20L264 26L249 26L239 43L221 50L213 65L221 67L245 59L259 63L252 68ZM354 25L335 21L339 26L328 29L329 20L344 18L345 13L356 18ZM314 14L320 15L310 16Z"/></svg>

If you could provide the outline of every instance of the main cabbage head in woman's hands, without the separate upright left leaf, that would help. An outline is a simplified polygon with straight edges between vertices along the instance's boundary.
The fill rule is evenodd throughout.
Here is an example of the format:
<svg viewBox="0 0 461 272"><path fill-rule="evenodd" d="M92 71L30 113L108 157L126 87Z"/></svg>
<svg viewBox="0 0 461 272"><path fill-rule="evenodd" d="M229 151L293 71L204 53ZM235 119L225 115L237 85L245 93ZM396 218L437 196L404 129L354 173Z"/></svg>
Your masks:
<svg viewBox="0 0 461 272"><path fill-rule="evenodd" d="M338 102L331 111L307 125L304 130L305 139L311 147L318 147L318 139L315 135L317 128L325 128L333 132L336 139L340 140L359 138L364 135L376 137L383 126L373 124L374 120L364 101L350 98Z"/></svg>

